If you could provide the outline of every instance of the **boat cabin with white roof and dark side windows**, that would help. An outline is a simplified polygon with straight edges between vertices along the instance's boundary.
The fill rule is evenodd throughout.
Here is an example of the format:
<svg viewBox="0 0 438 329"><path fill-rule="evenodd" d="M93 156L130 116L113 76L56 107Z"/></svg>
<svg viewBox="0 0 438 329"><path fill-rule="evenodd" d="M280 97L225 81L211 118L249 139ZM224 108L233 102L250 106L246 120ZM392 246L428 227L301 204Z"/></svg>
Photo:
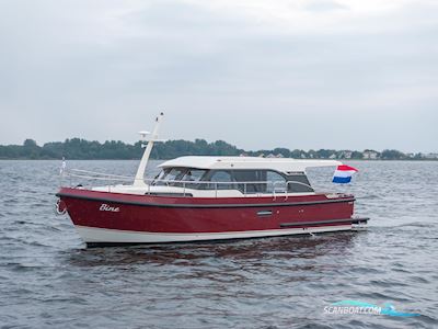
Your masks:
<svg viewBox="0 0 438 329"><path fill-rule="evenodd" d="M240 195L308 194L314 190L310 185L306 168L338 166L338 163L327 160L254 157L181 157L159 166L162 170L150 183L150 191L152 194L162 194L160 190L165 192L172 188L173 193L183 189L184 194L189 195L199 194L201 191L216 191L216 195L218 191L222 195L227 194L223 193L226 191L234 191ZM171 191L168 190L169 192Z"/></svg>

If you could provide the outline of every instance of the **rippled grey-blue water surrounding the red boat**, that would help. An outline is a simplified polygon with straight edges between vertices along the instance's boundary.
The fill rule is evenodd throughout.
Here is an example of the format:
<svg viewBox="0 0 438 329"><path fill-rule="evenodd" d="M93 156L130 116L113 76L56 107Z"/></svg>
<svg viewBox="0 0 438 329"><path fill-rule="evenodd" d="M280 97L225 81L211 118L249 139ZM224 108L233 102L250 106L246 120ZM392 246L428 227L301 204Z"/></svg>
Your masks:
<svg viewBox="0 0 438 329"><path fill-rule="evenodd" d="M438 162L355 162L367 231L85 249L54 214L59 161L0 161L1 328L437 328ZM152 163L157 164L157 163ZM134 174L136 161L69 167ZM354 299L418 317L328 315Z"/></svg>

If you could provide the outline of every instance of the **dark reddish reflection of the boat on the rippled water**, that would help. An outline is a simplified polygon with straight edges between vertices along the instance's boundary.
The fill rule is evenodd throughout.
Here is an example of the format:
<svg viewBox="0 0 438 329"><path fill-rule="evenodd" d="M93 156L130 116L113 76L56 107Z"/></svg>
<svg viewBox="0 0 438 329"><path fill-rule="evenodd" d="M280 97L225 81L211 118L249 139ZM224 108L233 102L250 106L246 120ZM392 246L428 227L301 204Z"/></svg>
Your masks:
<svg viewBox="0 0 438 329"><path fill-rule="evenodd" d="M69 252L68 262L74 266L101 265L195 265L206 258L230 261L281 259L318 259L331 251L346 252L355 232L325 234L315 237L275 237L220 242L169 243L114 248L90 248Z"/></svg>

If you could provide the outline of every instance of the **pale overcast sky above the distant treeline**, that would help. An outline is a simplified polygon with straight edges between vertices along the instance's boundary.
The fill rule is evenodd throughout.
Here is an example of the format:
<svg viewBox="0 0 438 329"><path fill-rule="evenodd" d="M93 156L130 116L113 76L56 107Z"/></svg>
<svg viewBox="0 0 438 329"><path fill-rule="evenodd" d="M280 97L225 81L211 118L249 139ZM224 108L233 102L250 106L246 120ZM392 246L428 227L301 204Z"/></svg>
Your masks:
<svg viewBox="0 0 438 329"><path fill-rule="evenodd" d="M436 0L0 0L0 145L438 151Z"/></svg>

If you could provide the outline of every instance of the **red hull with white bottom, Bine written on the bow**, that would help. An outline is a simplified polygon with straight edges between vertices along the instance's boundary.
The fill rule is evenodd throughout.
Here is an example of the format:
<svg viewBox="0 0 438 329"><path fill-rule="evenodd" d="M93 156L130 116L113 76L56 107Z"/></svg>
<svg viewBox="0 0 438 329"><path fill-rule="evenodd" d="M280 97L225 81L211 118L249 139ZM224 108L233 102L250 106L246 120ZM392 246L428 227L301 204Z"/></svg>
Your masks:
<svg viewBox="0 0 438 329"><path fill-rule="evenodd" d="M88 243L251 238L351 228L351 195L169 197L62 188Z"/></svg>

